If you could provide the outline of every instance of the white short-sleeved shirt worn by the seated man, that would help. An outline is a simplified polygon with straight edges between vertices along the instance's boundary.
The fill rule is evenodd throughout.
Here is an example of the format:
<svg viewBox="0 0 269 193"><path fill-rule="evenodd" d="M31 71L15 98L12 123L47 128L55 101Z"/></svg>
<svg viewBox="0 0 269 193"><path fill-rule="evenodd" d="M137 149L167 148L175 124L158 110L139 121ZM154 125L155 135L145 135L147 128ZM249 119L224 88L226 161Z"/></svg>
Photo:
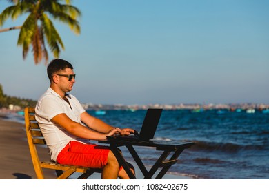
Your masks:
<svg viewBox="0 0 269 193"><path fill-rule="evenodd" d="M71 94L66 95L70 105L59 96L52 88L48 90L37 101L35 117L39 123L42 134L50 149L50 156L53 161L57 160L59 152L69 143L69 141L86 142L68 133L61 126L50 121L57 114L65 113L72 121L81 123L81 113L85 112L79 101ZM83 123L81 123L83 125Z"/></svg>

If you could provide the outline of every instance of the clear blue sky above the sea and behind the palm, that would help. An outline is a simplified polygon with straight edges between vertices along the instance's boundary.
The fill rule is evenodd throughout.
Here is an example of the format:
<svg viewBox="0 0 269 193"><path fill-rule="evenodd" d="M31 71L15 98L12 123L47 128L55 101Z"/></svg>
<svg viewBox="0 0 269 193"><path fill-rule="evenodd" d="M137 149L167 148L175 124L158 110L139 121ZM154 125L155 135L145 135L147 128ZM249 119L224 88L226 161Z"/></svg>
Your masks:
<svg viewBox="0 0 269 193"><path fill-rule="evenodd" d="M269 103L269 1L72 2L81 34L55 26L82 103ZM8 5L0 1L0 12ZM8 95L38 99L46 65L31 52L22 59L18 35L0 33L0 83Z"/></svg>

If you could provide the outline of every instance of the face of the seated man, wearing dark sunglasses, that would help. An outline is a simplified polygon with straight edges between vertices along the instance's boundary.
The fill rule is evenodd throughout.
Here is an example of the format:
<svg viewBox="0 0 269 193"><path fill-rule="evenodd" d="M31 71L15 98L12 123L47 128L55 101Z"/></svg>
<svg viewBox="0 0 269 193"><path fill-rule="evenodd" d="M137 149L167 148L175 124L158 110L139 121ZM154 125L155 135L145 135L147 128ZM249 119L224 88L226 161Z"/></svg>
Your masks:
<svg viewBox="0 0 269 193"><path fill-rule="evenodd" d="M57 75L59 77L58 86L63 92L70 92L72 90L73 85L76 82L74 80L74 77L70 76L73 74L74 74L74 71L70 68L66 68L66 70L61 70L58 73Z"/></svg>

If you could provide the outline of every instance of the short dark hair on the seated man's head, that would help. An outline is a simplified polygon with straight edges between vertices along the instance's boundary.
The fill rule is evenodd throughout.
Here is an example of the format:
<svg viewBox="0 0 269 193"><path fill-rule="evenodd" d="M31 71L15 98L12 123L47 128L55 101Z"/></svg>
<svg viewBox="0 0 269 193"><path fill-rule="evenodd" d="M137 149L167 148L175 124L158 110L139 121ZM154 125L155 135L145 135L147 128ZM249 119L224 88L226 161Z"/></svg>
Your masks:
<svg viewBox="0 0 269 193"><path fill-rule="evenodd" d="M54 59L50 61L47 68L48 79L51 81L54 74L58 73L60 70L66 70L66 68L73 69L73 66L63 59Z"/></svg>

